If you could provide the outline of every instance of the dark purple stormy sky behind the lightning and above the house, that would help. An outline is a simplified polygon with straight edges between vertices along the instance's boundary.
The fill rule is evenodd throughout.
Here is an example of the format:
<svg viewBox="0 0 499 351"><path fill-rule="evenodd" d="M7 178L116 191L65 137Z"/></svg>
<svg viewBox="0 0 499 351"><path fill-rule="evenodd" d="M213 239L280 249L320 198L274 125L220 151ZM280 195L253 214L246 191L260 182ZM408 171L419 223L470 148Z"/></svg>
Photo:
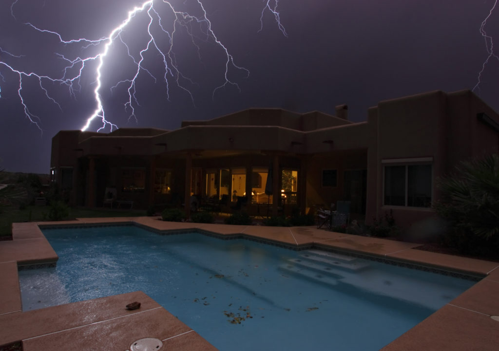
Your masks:
<svg viewBox="0 0 499 351"><path fill-rule="evenodd" d="M13 1L12 1L13 2ZM24 24L57 31L63 40L108 36L127 13L142 0L17 0L0 2L0 169L48 173L51 138L59 130L81 129L96 108L95 62L88 62L71 95L67 86L49 83L43 87L61 109L44 96L35 77L23 77L23 98L31 113L39 117L43 132L25 116L17 96L19 75L12 68L59 78L64 60L96 55L103 45L82 49L81 44L62 44L57 36L38 32ZM186 2L187 4L184 4ZM177 10L200 15L196 0L173 0ZM102 88L106 119L118 127L176 129L182 120L215 118L250 107L281 107L297 112L311 110L334 114L334 106L349 105L350 119L363 121L367 108L381 100L430 90L472 89L488 52L480 33L482 21L495 0L280 0L284 36L257 0L205 0L207 16L218 39L233 55L235 64L250 71L229 70L239 84L213 90L224 83L225 53L213 39L203 41L203 32L193 25L194 42L185 30L174 37L177 67L196 84L181 80L194 98L169 78L170 100L163 81L164 65L157 51L144 54L145 71L136 81L134 105L137 121L129 121L125 110L127 90L110 87L134 74L131 58L118 40L104 60ZM498 5L499 7L499 5ZM163 26L170 30L172 11L155 1ZM148 40L148 17L138 14L122 38L138 60ZM161 34L155 27L155 34ZM499 46L499 8L485 27ZM158 35L165 51L166 35ZM21 56L14 57L12 55ZM71 72L71 71L70 71ZM74 72L74 70L73 70ZM76 88L76 85L75 85ZM492 58L482 75L478 95L499 111L499 62ZM97 121L90 130L101 125ZM109 128L106 129L106 132Z"/></svg>

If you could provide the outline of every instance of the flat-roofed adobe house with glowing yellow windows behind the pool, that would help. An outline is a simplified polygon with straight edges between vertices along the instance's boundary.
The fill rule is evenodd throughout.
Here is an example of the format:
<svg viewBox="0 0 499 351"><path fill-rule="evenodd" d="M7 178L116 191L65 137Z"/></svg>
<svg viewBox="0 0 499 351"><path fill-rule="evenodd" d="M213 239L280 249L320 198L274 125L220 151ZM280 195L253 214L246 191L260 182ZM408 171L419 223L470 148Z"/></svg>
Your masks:
<svg viewBox="0 0 499 351"><path fill-rule="evenodd" d="M50 166L72 205L102 206L110 187L134 208L184 204L187 213L193 194L248 196L252 214L276 214L283 199L286 214L349 200L366 223L392 210L408 227L433 215L438 177L498 148L493 109L470 90L432 91L381 101L358 123L339 105L336 116L251 108L173 131L60 131ZM276 191L266 195L269 171Z"/></svg>

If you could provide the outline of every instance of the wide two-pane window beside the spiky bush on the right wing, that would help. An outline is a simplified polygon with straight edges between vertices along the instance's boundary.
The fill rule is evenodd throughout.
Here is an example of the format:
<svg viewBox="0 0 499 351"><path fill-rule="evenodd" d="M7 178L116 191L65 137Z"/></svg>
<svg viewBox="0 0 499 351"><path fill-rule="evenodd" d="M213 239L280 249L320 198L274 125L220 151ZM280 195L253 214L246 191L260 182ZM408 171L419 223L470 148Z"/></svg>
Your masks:
<svg viewBox="0 0 499 351"><path fill-rule="evenodd" d="M431 202L431 165L385 166L385 205L430 207Z"/></svg>

